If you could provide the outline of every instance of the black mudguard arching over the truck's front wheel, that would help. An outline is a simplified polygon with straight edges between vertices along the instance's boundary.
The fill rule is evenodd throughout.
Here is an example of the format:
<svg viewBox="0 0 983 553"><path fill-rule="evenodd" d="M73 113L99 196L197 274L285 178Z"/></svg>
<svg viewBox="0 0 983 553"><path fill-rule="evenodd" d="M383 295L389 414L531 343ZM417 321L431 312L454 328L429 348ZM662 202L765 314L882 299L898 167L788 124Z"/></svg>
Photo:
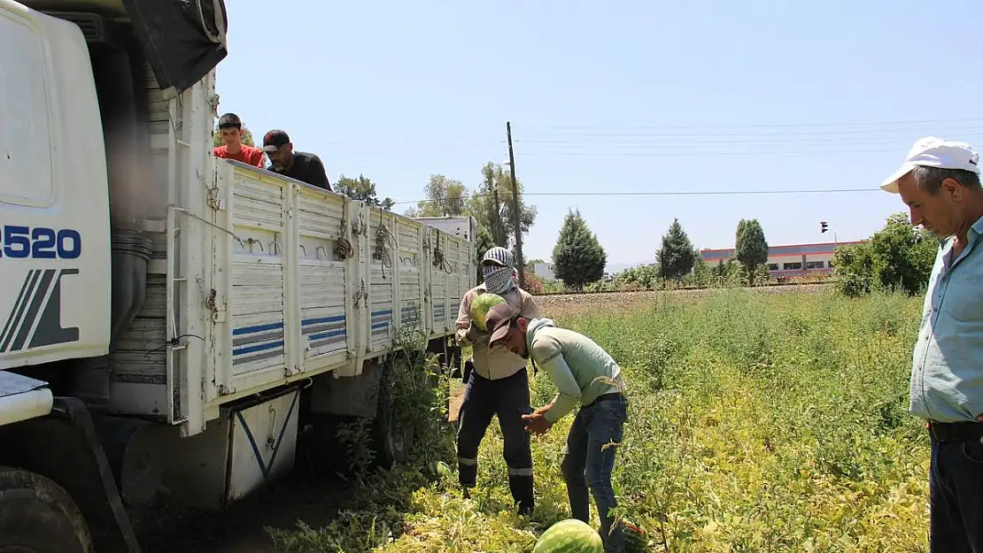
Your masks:
<svg viewBox="0 0 983 553"><path fill-rule="evenodd" d="M86 404L55 398L51 415L0 426L0 461L37 472L72 496L98 553L141 553Z"/></svg>

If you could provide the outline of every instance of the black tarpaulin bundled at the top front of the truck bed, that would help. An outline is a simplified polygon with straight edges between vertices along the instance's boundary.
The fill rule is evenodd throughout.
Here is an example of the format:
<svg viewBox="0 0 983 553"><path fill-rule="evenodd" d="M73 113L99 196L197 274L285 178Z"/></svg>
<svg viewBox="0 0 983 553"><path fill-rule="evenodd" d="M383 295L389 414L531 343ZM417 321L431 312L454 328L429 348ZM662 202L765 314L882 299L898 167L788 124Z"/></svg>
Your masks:
<svg viewBox="0 0 983 553"><path fill-rule="evenodd" d="M224 0L123 0L165 96L202 80L228 55Z"/></svg>

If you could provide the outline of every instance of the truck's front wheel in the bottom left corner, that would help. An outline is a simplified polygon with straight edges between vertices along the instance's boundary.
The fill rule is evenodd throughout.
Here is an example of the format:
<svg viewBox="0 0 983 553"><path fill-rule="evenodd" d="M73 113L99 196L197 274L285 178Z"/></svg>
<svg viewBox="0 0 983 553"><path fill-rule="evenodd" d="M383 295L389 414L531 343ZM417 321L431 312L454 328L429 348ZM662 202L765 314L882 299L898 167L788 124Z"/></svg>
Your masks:
<svg viewBox="0 0 983 553"><path fill-rule="evenodd" d="M0 553L92 553L82 511L61 486L0 467Z"/></svg>

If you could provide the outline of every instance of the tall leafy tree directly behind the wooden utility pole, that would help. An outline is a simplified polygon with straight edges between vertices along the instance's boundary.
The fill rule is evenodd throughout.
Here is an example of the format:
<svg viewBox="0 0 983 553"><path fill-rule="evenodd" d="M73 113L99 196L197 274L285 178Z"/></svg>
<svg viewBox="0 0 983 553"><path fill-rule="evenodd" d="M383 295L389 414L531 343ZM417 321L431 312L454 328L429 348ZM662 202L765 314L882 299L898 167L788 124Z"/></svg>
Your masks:
<svg viewBox="0 0 983 553"><path fill-rule="evenodd" d="M519 191L519 232L529 233L536 221L536 206L522 200L522 181L516 181ZM512 207L512 177L501 165L492 162L482 168L482 186L468 201L469 213L492 234L496 246L511 248L515 244L515 219ZM599 277L600 278L600 277Z"/></svg>

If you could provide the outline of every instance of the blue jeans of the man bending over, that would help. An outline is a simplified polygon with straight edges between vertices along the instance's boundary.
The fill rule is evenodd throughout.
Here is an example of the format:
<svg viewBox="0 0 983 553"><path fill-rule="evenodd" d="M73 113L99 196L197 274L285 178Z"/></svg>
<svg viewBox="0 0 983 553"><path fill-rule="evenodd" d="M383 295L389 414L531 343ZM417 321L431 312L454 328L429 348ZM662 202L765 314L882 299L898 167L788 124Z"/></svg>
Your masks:
<svg viewBox="0 0 983 553"><path fill-rule="evenodd" d="M611 470L616 446L624 436L628 402L620 394L602 396L599 400L582 407L570 425L563 451L563 479L573 518L590 523L590 490L598 506L605 551L620 553L624 551L624 536L620 525L611 531L614 520L608 510L617 506L611 487Z"/></svg>

